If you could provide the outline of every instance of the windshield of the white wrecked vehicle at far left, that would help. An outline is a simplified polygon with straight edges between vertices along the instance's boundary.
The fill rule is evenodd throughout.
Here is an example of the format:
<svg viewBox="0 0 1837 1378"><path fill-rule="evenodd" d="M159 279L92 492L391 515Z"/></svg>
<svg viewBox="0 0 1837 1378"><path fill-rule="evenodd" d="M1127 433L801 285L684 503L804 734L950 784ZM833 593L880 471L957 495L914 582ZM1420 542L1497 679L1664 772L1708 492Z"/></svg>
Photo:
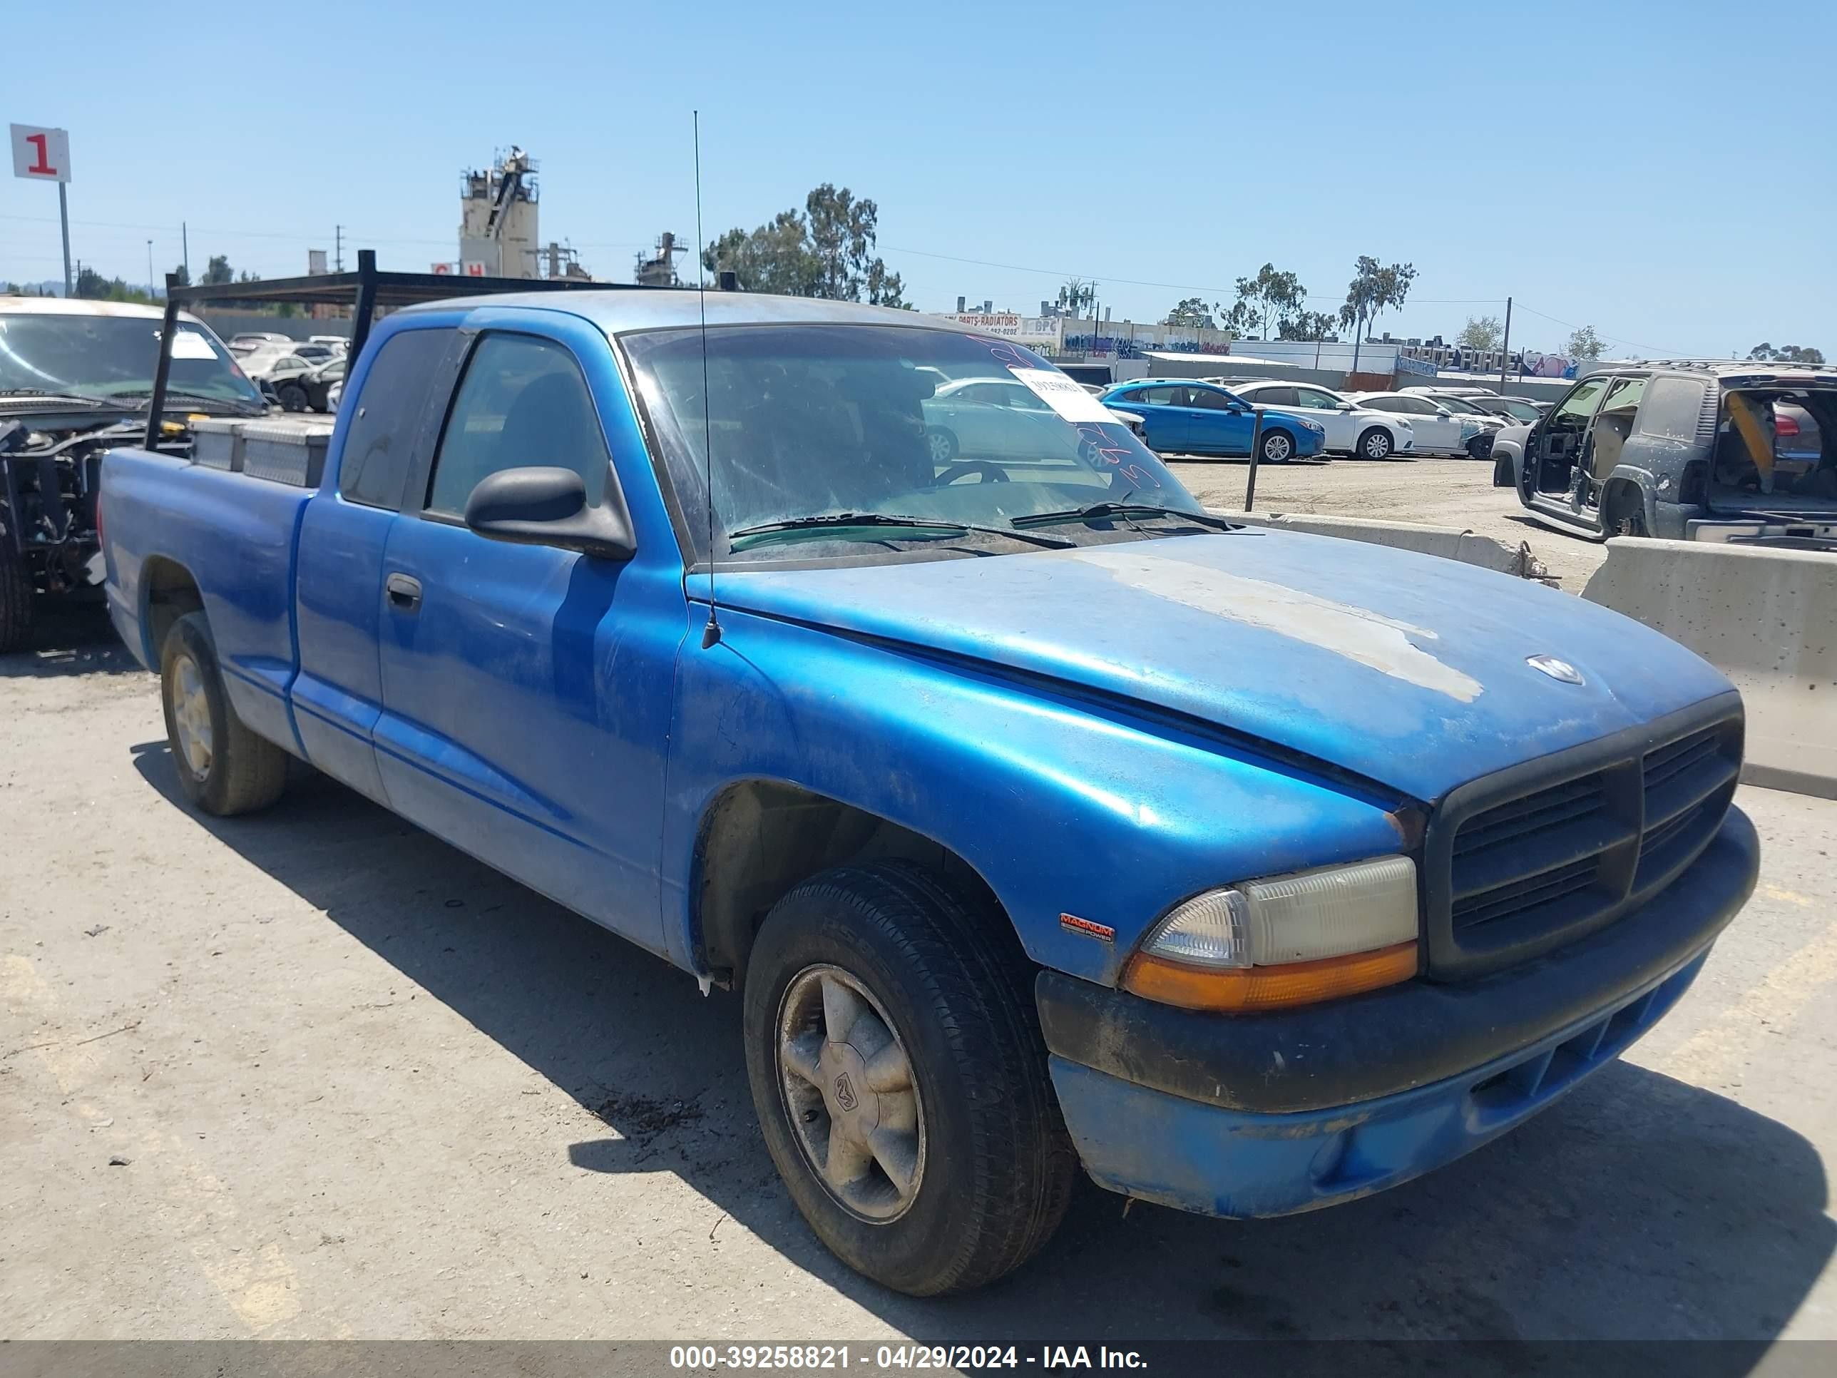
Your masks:
<svg viewBox="0 0 1837 1378"><path fill-rule="evenodd" d="M138 399L152 391L160 322L140 316L0 316L0 391ZM230 353L180 322L167 390L187 401L261 406L261 391Z"/></svg>

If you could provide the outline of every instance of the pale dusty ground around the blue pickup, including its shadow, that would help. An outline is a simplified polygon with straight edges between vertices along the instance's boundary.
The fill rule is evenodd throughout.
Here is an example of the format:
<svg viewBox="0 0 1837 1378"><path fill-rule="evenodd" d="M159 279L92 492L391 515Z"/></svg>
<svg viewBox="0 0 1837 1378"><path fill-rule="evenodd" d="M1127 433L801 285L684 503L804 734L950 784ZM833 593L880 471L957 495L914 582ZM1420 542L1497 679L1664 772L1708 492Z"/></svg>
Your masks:
<svg viewBox="0 0 1837 1378"><path fill-rule="evenodd" d="M1492 492L1380 472L1264 492L1437 520ZM920 1303L797 1218L737 1000L336 785L187 812L152 680L61 617L0 658L0 1336L1837 1338L1837 805L1741 805L1754 902L1528 1126L1288 1220L1091 1189L1025 1273Z"/></svg>

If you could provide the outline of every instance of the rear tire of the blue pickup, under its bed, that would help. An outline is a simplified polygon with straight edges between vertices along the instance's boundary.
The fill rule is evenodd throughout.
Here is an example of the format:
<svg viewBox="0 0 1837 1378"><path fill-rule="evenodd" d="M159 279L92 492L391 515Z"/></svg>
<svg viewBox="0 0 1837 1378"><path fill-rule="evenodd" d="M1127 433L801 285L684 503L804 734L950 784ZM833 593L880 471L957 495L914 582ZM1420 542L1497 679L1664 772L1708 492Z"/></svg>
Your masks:
<svg viewBox="0 0 1837 1378"><path fill-rule="evenodd" d="M186 693L191 665L202 704ZM217 645L202 612L189 612L173 623L160 649L160 702L165 707L165 740L173 750L178 788L206 814L228 818L266 808L287 788L288 755L274 742L242 726L224 695L217 669ZM209 744L197 755L195 728L180 717L180 704L202 711L209 726ZM189 739L187 739L187 733Z"/></svg>

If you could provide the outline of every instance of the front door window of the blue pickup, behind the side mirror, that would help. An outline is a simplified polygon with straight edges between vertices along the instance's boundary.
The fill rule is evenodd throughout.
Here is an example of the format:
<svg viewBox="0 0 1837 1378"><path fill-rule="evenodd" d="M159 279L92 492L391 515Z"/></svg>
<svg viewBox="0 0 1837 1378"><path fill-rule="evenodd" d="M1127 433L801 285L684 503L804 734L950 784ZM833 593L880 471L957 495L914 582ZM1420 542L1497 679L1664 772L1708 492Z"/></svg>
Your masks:
<svg viewBox="0 0 1837 1378"><path fill-rule="evenodd" d="M487 334L446 419L428 511L459 516L479 480L524 467L575 470L597 507L612 456L573 355L529 334Z"/></svg>

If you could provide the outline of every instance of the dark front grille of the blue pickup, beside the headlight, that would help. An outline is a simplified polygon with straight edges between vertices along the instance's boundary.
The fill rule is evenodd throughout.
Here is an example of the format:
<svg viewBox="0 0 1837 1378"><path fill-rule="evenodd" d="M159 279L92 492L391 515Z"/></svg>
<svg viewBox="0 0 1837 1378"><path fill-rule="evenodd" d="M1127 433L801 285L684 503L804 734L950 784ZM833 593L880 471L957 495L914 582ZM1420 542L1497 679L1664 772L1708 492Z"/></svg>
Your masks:
<svg viewBox="0 0 1837 1378"><path fill-rule="evenodd" d="M1734 797L1740 706L1719 700L1464 785L1429 823L1429 972L1477 976L1574 941L1696 860Z"/></svg>

